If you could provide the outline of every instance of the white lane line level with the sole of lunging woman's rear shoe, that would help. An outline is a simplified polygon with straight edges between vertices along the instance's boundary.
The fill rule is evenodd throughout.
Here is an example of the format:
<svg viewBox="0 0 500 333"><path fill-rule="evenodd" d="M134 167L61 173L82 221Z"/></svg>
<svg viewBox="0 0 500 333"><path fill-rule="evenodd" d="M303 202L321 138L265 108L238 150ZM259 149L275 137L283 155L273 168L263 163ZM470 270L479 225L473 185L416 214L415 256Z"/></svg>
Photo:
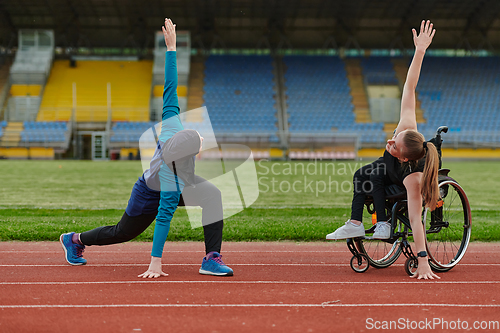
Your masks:
<svg viewBox="0 0 500 333"><path fill-rule="evenodd" d="M199 263L184 263L184 264L162 264L162 266L199 266ZM149 266L149 264L137 264L137 263L130 263L130 264L88 264L85 265L84 267L132 267L132 266ZM258 264L258 263L249 263L249 264L233 264L230 263L228 266L293 266L293 267L314 267L314 266L327 266L327 267L345 267L349 266L348 264L326 264L326 263L315 263L315 264ZM392 264L391 266L404 266L404 264ZM499 263L484 263L484 264L459 264L459 266L500 266ZM68 264L2 264L0 267L73 267Z"/></svg>

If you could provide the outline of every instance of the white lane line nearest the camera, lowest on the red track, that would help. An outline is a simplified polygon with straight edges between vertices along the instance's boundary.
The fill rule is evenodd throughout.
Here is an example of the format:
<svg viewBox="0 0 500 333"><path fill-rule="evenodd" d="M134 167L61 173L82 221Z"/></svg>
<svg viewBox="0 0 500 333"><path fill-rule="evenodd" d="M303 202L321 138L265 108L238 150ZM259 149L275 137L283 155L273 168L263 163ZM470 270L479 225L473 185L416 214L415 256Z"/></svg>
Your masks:
<svg viewBox="0 0 500 333"><path fill-rule="evenodd" d="M498 308L500 304L444 304L444 303L392 303L392 304L40 304L0 305L0 309L43 308L356 308L356 307L439 307L439 308Z"/></svg>

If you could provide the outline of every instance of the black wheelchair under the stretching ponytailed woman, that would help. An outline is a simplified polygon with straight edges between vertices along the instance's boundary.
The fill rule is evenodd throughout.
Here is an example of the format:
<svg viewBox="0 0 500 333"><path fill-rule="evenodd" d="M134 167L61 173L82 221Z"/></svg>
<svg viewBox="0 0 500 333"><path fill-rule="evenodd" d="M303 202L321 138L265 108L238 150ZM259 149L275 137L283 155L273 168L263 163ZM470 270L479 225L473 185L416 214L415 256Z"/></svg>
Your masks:
<svg viewBox="0 0 500 333"><path fill-rule="evenodd" d="M447 272L462 260L471 235L471 210L467 195L458 182L449 176L450 170L441 169L441 133L447 131L448 127L441 126L435 137L429 140L439 153L440 199L435 210L422 209L429 265L435 272ZM353 254L351 268L357 273L366 272L370 266L386 268L403 253L407 258L405 271L411 276L417 270L418 261L408 241L412 232L406 190L398 185L390 185L385 188L385 192L391 236L389 239L373 239L370 237L375 231L373 225L365 230L365 236L347 239L347 247ZM371 196L367 196L365 206L370 214L375 212Z"/></svg>

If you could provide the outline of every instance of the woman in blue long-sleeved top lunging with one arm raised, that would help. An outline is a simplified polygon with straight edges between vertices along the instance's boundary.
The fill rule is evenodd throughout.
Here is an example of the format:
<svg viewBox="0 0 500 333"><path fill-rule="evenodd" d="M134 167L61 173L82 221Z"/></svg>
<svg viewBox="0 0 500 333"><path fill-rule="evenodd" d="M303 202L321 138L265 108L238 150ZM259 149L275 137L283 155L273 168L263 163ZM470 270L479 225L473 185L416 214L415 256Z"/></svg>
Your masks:
<svg viewBox="0 0 500 333"><path fill-rule="evenodd" d="M125 213L117 225L80 234L62 234L60 242L69 264L85 265L87 260L82 253L86 245L129 241L156 218L151 263L139 277L166 276L168 274L161 269L161 257L172 216L178 206L201 206L206 256L199 273L233 275L233 270L224 264L219 254L223 228L221 193L215 185L194 174L194 157L201 150L203 138L197 131L184 130L179 118L175 25L165 19L162 30L167 45L162 130L150 169L134 184Z"/></svg>

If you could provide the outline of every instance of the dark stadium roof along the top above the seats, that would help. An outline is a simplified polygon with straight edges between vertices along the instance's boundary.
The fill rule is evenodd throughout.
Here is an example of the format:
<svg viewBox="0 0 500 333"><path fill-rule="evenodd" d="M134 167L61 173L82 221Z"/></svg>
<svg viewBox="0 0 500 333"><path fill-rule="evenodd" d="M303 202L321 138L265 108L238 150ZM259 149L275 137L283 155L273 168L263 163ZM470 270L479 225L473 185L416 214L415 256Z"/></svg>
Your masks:
<svg viewBox="0 0 500 333"><path fill-rule="evenodd" d="M52 29L57 46L153 47L164 17L193 47L411 48L431 19L434 48L500 48L499 0L2 0L0 46Z"/></svg>

